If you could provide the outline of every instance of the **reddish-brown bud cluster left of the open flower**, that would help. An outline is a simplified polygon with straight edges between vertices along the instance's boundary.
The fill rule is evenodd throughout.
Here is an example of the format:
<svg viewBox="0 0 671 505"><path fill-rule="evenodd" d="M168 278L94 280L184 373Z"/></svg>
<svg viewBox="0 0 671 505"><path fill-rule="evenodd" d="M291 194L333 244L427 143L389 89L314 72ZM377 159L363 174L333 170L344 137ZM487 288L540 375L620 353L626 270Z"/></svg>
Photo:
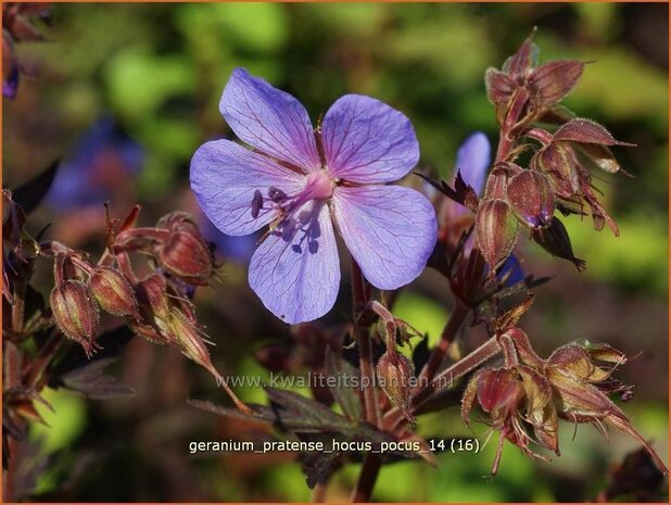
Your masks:
<svg viewBox="0 0 671 505"><path fill-rule="evenodd" d="M139 228L138 213L135 207L123 223L107 218L107 250L98 265L59 242L46 248L54 255L53 318L90 356L99 311L124 317L137 334L180 349L219 377L189 302L194 287L207 285L214 275L212 252L188 214L174 212L155 227ZM130 253L149 257L153 273L138 279Z"/></svg>

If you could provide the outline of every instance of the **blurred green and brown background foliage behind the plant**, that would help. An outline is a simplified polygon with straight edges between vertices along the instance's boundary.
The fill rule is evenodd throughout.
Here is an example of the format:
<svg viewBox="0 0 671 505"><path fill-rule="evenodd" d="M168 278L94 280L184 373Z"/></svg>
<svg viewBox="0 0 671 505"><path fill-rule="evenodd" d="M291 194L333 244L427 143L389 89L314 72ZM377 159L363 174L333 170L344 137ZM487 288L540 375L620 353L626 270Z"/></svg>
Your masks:
<svg viewBox="0 0 671 505"><path fill-rule="evenodd" d="M621 237L594 232L587 220L568 220L575 254L587 261L585 273L522 240L524 269L556 276L537 291L522 327L541 353L577 338L640 353L621 374L636 386L635 401L624 408L667 460L667 4L56 4L42 29L50 41L16 48L30 75L17 98L3 104L4 185L13 187L52 160L67 159L104 116L145 154L134 182L114 197L116 214L132 201L143 204L144 224L169 210L195 211L189 161L204 140L230 138L217 104L237 66L297 97L315 119L347 92L392 104L415 125L421 167L447 178L469 134L482 130L496 141L483 74L488 66L501 66L534 26L542 61L594 62L565 104L638 147L616 150L634 179L604 174L598 184ZM66 237L71 245L100 248L99 206L58 216L56 211L41 210L36 218L53 222L51 235ZM223 286L199 300L218 344L213 361L227 371L263 375L254 350L276 336L288 339L288 330L249 292L244 265L231 261L224 272ZM396 315L435 339L450 306L447 287L429 272L404 292ZM346 300L339 302L327 320L346 320ZM481 328L469 329L467 345L483 338ZM33 438L46 440L40 454L51 463L37 480L42 496L309 498L290 455L189 456L189 441L240 438L252 429L185 405L186 397L227 401L193 364L134 341L117 373L136 388L135 399L102 403L63 391L49 394L58 415L46 413L52 427L36 429ZM240 395L264 401L261 391ZM481 434L483 427L476 430ZM552 465L530 462L507 446L494 481L482 479L494 444L478 455L445 454L438 470L418 462L392 465L382 471L375 498L593 500L606 483L608 465L636 444L613 430L606 440L590 426L579 427L571 442L572 430L564 426L562 456ZM456 409L422 419L419 432L468 434ZM83 453L90 457L84 467ZM347 498L357 468L334 477L329 500ZM63 482L71 484L65 491Z"/></svg>

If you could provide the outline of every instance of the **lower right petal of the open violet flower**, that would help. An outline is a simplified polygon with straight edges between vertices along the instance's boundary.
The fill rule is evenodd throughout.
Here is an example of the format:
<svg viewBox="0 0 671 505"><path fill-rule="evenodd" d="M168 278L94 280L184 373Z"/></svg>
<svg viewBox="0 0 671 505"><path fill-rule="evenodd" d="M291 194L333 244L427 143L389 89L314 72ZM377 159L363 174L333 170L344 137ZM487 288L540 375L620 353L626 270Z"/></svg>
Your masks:
<svg viewBox="0 0 671 505"><path fill-rule="evenodd" d="M337 187L336 224L370 283L396 289L419 276L435 245L435 213L419 192L400 186Z"/></svg>

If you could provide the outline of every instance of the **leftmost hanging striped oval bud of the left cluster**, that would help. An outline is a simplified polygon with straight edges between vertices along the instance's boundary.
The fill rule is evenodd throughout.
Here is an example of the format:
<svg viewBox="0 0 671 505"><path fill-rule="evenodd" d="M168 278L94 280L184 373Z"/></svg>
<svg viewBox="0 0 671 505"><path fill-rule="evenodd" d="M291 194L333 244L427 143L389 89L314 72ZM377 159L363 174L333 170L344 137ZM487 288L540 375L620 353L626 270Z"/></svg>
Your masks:
<svg viewBox="0 0 671 505"><path fill-rule="evenodd" d="M65 280L51 290L51 312L63 333L79 342L88 356L93 349L98 327L98 305L87 286L79 280Z"/></svg>

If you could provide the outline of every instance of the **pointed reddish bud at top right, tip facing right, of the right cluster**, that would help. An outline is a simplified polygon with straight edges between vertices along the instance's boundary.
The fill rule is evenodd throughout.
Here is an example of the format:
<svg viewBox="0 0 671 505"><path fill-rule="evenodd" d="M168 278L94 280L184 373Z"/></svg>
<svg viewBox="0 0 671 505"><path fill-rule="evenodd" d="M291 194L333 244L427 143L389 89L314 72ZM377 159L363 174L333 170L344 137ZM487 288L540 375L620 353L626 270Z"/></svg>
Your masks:
<svg viewBox="0 0 671 505"><path fill-rule="evenodd" d="M529 76L529 94L540 108L552 106L566 97L575 86L584 63L558 60L544 63Z"/></svg>

